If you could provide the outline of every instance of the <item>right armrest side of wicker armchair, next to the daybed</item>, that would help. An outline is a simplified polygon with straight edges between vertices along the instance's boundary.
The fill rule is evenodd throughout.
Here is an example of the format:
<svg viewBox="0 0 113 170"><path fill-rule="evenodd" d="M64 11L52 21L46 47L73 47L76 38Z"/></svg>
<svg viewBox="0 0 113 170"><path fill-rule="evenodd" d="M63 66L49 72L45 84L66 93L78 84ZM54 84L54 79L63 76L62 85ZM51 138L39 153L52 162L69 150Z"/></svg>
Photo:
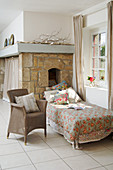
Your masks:
<svg viewBox="0 0 113 170"><path fill-rule="evenodd" d="M46 100L36 100L36 103L39 106L39 109L41 110L41 112L46 113L47 101Z"/></svg>

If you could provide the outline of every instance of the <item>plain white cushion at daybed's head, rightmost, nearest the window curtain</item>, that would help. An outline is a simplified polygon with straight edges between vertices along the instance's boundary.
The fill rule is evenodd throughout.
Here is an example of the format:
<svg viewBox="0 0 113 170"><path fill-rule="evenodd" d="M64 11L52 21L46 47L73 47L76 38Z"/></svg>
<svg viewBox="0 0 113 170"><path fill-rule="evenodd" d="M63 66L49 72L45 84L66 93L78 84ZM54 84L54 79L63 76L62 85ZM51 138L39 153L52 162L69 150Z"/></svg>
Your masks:
<svg viewBox="0 0 113 170"><path fill-rule="evenodd" d="M82 99L79 97L79 95L76 93L76 91L72 87L69 87L68 89L66 89L66 92L69 94L69 103L82 101Z"/></svg>

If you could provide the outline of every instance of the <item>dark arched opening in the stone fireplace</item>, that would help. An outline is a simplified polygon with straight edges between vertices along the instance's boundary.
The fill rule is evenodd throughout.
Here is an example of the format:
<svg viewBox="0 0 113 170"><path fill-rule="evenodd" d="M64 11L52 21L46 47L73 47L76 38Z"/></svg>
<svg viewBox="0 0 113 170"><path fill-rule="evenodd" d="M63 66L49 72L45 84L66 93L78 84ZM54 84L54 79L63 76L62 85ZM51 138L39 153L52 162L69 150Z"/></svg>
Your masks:
<svg viewBox="0 0 113 170"><path fill-rule="evenodd" d="M49 87L54 86L60 83L60 70L56 68L52 68L48 70L49 74Z"/></svg>

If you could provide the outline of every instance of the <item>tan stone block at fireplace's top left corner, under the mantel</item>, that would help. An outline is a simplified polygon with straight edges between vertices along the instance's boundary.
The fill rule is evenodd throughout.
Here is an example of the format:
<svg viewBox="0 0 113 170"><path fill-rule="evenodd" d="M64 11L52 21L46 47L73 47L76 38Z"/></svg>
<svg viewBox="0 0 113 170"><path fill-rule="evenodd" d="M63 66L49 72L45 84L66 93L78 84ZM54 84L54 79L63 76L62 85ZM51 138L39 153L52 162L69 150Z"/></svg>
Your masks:
<svg viewBox="0 0 113 170"><path fill-rule="evenodd" d="M32 67L33 66L33 56L30 53L22 54L22 67Z"/></svg>

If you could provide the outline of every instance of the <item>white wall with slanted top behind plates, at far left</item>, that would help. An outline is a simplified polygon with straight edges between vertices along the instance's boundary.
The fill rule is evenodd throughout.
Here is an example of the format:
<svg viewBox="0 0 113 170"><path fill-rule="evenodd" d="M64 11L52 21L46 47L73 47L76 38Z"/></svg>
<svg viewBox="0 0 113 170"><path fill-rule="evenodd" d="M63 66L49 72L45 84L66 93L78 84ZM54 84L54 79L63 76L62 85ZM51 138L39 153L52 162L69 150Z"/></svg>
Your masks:
<svg viewBox="0 0 113 170"><path fill-rule="evenodd" d="M0 49L4 47L4 41L14 34L14 42L23 41L23 12L0 33Z"/></svg>

